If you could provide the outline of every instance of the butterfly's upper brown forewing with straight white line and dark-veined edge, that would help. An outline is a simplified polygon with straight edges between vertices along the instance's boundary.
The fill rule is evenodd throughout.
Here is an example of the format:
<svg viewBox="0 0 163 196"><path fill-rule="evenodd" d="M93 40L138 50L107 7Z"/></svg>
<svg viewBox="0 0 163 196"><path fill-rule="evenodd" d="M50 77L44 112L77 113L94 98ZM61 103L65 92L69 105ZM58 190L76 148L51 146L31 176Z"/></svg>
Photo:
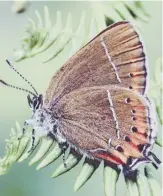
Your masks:
<svg viewBox="0 0 163 196"><path fill-rule="evenodd" d="M129 22L113 24L72 56L52 78L45 104L78 88L108 84L145 91L145 54Z"/></svg>

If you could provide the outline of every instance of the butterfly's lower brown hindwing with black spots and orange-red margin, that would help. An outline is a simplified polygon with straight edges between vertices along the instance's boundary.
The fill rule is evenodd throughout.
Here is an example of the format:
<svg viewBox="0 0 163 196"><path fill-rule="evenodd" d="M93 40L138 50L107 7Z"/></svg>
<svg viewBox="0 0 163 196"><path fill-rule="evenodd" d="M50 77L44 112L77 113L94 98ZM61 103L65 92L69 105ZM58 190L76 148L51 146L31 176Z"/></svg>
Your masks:
<svg viewBox="0 0 163 196"><path fill-rule="evenodd" d="M76 148L126 163L129 156L143 156L140 146L152 144L148 105L145 98L127 89L90 87L65 95L53 110L59 117L59 130Z"/></svg>

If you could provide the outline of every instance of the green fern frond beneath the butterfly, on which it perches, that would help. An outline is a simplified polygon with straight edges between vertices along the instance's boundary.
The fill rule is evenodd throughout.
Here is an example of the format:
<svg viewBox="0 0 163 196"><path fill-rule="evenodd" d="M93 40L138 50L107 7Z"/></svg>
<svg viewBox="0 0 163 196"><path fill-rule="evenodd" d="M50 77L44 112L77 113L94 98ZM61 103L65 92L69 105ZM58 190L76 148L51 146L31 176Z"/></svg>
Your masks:
<svg viewBox="0 0 163 196"><path fill-rule="evenodd" d="M0 161L0 175L6 174L15 162L22 162L28 157L34 154L30 158L29 165L33 165L41 161L37 166L37 170L47 167L52 164L56 159L62 155L62 151L58 144L52 139L46 137L38 138L34 150L29 151L31 148L31 130L26 132L26 135L18 140L21 135L21 128L19 123L16 122L16 127L11 131L10 140L6 141L6 155ZM56 178L72 168L74 168L82 159L82 155L78 154L73 149L69 150L69 155L65 161L66 167L62 163L55 172L52 174L53 178ZM82 169L77 177L74 185L74 191L78 191L93 175L96 169L99 167L99 161L92 161L85 159ZM133 182L130 178L125 178L126 186L129 196L140 196L144 193L148 193L150 196L156 196L156 193L161 192L161 187L157 180L153 176L153 171L150 166L145 167L145 173L138 171L136 181ZM104 190L106 196L115 196L117 181L119 179L120 170L112 169L106 163L104 164L103 178L104 178ZM154 185L154 186L153 186Z"/></svg>

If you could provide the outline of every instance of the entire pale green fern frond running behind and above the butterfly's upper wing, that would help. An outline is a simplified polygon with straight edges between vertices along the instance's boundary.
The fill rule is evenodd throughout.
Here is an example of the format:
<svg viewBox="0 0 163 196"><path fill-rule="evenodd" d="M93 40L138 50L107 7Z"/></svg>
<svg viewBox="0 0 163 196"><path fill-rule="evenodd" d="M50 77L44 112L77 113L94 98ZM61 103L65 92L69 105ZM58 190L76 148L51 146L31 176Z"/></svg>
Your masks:
<svg viewBox="0 0 163 196"><path fill-rule="evenodd" d="M96 14L97 12L98 14ZM44 20L37 10L35 14L37 22L29 18L29 23L25 27L26 34L21 38L20 49L14 51L15 61L33 57L53 46L53 53L44 60L44 62L48 62L62 53L64 48L71 43L68 50L69 54L65 58L67 60L101 30L114 22L129 20L141 27L141 21L148 20L141 2L125 1L92 4L92 18L89 23L87 21L88 14L83 12L76 30L73 30L71 13L68 14L64 25L60 11L56 13L54 25L52 25L48 7L44 7Z"/></svg>

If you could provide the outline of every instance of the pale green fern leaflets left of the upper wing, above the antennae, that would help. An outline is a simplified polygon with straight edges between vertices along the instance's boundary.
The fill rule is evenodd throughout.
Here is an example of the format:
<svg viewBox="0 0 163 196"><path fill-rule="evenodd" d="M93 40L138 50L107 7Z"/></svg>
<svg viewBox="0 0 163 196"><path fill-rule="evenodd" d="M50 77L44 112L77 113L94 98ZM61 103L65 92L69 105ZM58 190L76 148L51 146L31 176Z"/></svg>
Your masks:
<svg viewBox="0 0 163 196"><path fill-rule="evenodd" d="M62 14L58 11L54 26L52 26L48 8L46 6L44 7L44 24L39 12L35 11L35 13L38 24L29 18L29 24L25 28L26 35L21 39L21 48L14 52L16 61L33 57L44 52L53 45L53 53L44 60L44 62L48 62L61 53L71 42L71 48L69 49L69 54L67 54L67 58L69 58L101 30L98 29L94 18L92 18L87 27L85 12L81 15L79 26L76 31L74 31L72 27L71 13L68 14L66 24L63 25Z"/></svg>

